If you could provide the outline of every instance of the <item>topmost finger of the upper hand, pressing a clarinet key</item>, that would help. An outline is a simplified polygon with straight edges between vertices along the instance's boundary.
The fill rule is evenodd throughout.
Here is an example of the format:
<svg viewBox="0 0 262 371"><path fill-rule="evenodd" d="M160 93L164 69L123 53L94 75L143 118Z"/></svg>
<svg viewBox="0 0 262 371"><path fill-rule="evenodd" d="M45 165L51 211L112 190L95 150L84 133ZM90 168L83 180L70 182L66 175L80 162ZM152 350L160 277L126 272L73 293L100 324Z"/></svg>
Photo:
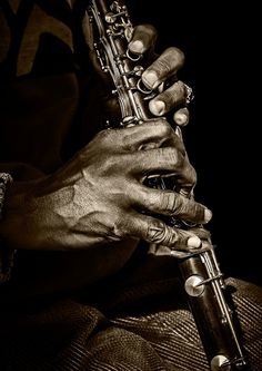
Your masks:
<svg viewBox="0 0 262 371"><path fill-rule="evenodd" d="M142 55L154 47L157 30L151 25L140 25L133 29L132 41L129 50L134 55Z"/></svg>

